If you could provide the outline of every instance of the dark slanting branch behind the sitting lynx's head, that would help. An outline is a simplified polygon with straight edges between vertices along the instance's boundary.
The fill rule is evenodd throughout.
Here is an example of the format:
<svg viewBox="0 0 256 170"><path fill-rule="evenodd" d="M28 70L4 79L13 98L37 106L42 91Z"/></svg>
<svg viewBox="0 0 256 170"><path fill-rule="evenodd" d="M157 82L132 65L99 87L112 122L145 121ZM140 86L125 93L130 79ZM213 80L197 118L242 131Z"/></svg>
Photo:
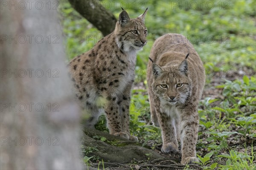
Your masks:
<svg viewBox="0 0 256 170"><path fill-rule="evenodd" d="M104 36L114 31L116 17L99 0L68 0L73 8L93 24ZM121 9L121 8L120 8Z"/></svg>

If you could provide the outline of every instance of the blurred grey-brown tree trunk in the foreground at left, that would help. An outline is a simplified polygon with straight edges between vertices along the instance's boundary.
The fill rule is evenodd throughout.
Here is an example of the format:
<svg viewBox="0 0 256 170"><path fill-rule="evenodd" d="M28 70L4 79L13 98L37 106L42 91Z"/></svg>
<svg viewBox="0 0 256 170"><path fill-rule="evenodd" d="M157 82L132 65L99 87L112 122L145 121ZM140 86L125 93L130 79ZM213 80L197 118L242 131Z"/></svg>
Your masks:
<svg viewBox="0 0 256 170"><path fill-rule="evenodd" d="M41 1L40 10L35 2L31 10L1 3L1 170L84 168L80 108L73 100L57 11L49 10L49 2Z"/></svg>

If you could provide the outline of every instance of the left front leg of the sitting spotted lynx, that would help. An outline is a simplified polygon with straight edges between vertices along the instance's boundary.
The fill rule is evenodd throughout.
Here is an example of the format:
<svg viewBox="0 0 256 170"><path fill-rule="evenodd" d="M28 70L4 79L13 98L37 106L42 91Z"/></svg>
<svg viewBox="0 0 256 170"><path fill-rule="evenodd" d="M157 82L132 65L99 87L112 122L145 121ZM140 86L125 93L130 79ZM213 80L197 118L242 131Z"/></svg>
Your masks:
<svg viewBox="0 0 256 170"><path fill-rule="evenodd" d="M119 114L119 105L117 104L117 97L108 97L108 102L104 105L104 110L108 120L109 133L115 136L120 136L129 139L127 133L122 131L121 117Z"/></svg>

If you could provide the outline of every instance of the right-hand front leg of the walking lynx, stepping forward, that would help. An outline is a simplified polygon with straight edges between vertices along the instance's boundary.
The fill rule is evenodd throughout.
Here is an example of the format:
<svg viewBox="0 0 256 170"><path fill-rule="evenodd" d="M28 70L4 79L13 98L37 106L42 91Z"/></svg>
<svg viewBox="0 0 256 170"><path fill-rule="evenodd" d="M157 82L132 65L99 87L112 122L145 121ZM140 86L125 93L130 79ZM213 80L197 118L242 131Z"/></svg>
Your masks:
<svg viewBox="0 0 256 170"><path fill-rule="evenodd" d="M181 120L183 130L181 134L181 164L198 161L195 145L198 137L198 113L186 114Z"/></svg>

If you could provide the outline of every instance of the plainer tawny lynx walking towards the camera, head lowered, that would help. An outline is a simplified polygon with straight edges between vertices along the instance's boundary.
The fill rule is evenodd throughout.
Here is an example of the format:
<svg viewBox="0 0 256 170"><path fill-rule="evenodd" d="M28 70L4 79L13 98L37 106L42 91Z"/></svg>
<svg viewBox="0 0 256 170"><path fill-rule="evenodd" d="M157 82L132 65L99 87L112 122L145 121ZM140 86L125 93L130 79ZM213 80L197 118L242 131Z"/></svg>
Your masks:
<svg viewBox="0 0 256 170"><path fill-rule="evenodd" d="M188 57L189 56L189 57ZM186 58L185 58L186 57ZM198 100L205 82L203 63L192 44L180 34L158 38L148 62L151 121L162 130L162 152L178 151L182 164L198 161Z"/></svg>

